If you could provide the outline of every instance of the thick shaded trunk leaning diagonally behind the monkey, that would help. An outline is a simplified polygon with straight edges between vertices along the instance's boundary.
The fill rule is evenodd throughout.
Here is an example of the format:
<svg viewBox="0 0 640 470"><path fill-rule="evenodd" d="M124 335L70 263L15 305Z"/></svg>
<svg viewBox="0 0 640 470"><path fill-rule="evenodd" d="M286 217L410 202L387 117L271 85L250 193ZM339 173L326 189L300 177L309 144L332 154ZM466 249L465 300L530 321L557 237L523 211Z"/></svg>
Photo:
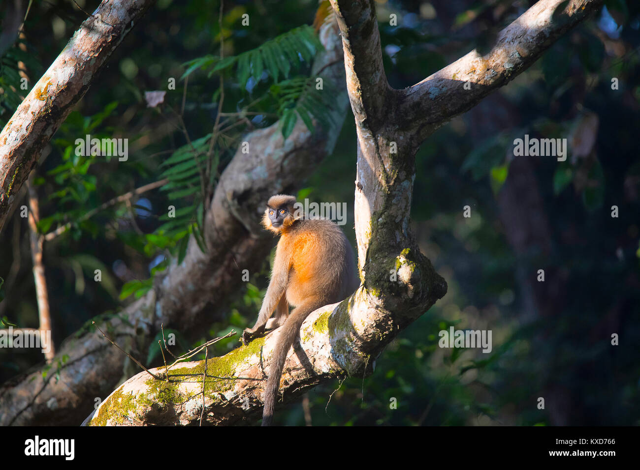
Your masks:
<svg viewBox="0 0 640 470"><path fill-rule="evenodd" d="M134 356L146 356L161 324L189 334L223 318L223 300L236 290L243 269L259 269L272 244L273 237L258 224L259 208L273 194L296 191L310 169L332 152L348 97L335 27L323 26L320 40L325 51L316 58L314 69L338 90L332 127L311 133L299 120L286 141L278 123L244 137L250 153L236 153L205 215L207 253L191 240L183 262L177 265L173 260L147 295L98 322ZM40 136L28 140L37 142ZM95 398L109 395L138 370L90 325L63 342L56 357L64 355L68 360L58 368L54 359L57 369L47 368L45 377L45 369L38 367L3 384L0 425L77 425L92 411Z"/></svg>

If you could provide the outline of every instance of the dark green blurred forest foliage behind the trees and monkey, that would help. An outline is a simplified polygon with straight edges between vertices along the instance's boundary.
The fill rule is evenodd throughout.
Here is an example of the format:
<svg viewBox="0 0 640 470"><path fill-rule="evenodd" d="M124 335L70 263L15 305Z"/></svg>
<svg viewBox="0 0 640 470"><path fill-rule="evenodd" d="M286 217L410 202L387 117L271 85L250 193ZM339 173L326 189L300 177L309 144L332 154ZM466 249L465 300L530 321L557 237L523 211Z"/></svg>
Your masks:
<svg viewBox="0 0 640 470"><path fill-rule="evenodd" d="M77 4L91 12L99 1ZM411 86L474 48L486 51L530 4L376 2L388 81L394 88ZM57 344L90 327L96 315L116 315L118 306L152 286L170 256L184 256L189 235L199 237L204 201L245 132L280 120L286 137L298 118L309 129L312 117L326 125L332 84L324 81L319 90L310 74L319 43L306 26L317 2L225 2L221 20L219 10L218 1L159 0L45 149L35 178L38 230L50 233L70 223L45 243ZM392 13L397 26L390 26ZM28 92L20 88L20 70L30 89L85 17L72 2L33 2L24 38L0 60L2 125ZM449 292L392 341L370 377L311 391L312 423L640 424L639 51L640 6L607 1L529 70L422 144L413 227ZM227 131L216 136L221 83ZM147 106L145 92L158 90L166 91L163 100ZM86 134L129 139L129 159L76 155L76 139ZM513 142L525 134L568 139L566 161L514 157ZM355 155L355 124L347 118L335 152L309 175L299 198L346 201L353 221ZM522 171L530 173L516 179ZM164 178L159 191L131 205L86 217ZM518 192L513 181L528 186ZM168 218L171 205L176 217ZM469 219L462 215L465 205ZM355 244L353 223L343 228ZM38 324L27 230L14 215L2 235L3 325ZM518 233L524 233L524 248L516 246ZM4 242L13 236L19 244ZM227 299L224 322L196 338L165 330L175 335L172 352L252 324L269 262ZM93 282L97 269L101 283ZM545 269L545 283L536 283L538 269ZM490 329L492 352L441 349L438 332L451 325ZM619 346L611 346L612 333L620 335ZM161 333L148 350L150 366L162 363L159 340ZM209 355L237 344L236 338L220 341ZM37 353L0 350L0 380L39 361ZM544 410L536 407L539 396ZM288 405L276 422L305 424L303 405Z"/></svg>

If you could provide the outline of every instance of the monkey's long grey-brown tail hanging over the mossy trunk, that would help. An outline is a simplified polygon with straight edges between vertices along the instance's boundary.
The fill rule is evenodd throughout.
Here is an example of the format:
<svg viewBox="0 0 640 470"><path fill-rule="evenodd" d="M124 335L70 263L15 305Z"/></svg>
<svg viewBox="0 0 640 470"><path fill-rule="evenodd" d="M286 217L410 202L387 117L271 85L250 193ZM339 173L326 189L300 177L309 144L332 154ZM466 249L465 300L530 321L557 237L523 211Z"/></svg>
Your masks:
<svg viewBox="0 0 640 470"><path fill-rule="evenodd" d="M282 377L282 369L287 359L287 352L289 352L289 348L292 347L293 342L296 340L296 335L300 331L305 318L308 317L309 313L321 306L322 304L299 306L291 312L284 325L280 327L276 347L273 350L273 357L271 357L271 364L269 365L269 379L267 380L267 386L264 388L262 426L271 426L273 407L276 402L276 395L278 395L278 389L280 389L280 377Z"/></svg>

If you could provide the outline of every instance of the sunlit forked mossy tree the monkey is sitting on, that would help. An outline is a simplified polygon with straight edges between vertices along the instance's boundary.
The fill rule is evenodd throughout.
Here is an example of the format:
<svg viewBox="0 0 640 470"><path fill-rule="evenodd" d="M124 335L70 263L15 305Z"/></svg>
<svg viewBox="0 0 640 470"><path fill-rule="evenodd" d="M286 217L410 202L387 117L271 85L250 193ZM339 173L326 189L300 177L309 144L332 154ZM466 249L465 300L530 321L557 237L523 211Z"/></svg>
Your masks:
<svg viewBox="0 0 640 470"><path fill-rule="evenodd" d="M355 217L362 285L349 299L305 320L300 345L285 363L285 401L335 377L371 372L385 345L445 294L444 279L420 253L410 230L420 143L529 67L602 0L541 0L502 31L488 54L472 51L405 90L387 83L374 1L331 3L358 135ZM397 280L390 280L390 273ZM100 405L91 424L189 425L198 423L202 412L209 424L253 420L261 412L264 363L274 340L268 334L207 364L179 364L165 380L139 373Z"/></svg>

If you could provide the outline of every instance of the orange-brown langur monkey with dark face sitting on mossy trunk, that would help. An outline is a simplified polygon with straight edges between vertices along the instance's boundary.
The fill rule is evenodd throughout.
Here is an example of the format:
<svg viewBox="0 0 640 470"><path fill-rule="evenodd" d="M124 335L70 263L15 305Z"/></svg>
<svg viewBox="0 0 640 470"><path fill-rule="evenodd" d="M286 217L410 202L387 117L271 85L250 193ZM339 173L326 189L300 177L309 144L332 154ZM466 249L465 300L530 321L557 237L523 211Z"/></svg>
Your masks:
<svg viewBox="0 0 640 470"><path fill-rule="evenodd" d="M280 235L271 271L271 281L262 301L258 320L244 330L244 344L269 327L278 339L269 364L264 389L262 426L271 425L280 377L305 318L317 308L342 301L358 287L355 258L349 240L330 220L296 218L296 198L271 196L262 224ZM294 309L289 314L289 305ZM270 318L275 309L275 318Z"/></svg>

